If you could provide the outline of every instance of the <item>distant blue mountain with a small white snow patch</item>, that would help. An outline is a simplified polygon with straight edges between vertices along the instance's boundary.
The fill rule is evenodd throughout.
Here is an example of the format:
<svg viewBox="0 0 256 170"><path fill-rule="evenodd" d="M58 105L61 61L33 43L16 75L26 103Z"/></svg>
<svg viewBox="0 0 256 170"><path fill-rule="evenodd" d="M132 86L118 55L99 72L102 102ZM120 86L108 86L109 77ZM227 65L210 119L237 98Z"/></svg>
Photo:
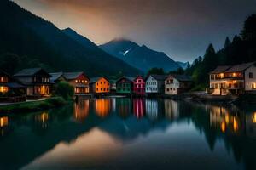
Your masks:
<svg viewBox="0 0 256 170"><path fill-rule="evenodd" d="M153 67L163 68L165 71L177 70L180 66L162 52L154 51L145 45L139 46L135 42L125 39L114 39L101 46L104 51L129 65L147 72Z"/></svg>

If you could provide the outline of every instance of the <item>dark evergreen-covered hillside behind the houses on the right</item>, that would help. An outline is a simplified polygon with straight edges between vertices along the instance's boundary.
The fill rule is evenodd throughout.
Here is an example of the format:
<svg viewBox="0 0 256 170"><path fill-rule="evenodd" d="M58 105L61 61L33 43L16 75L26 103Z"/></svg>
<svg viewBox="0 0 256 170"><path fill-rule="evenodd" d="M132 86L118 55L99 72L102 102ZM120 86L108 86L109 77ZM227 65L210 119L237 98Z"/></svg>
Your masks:
<svg viewBox="0 0 256 170"><path fill-rule="evenodd" d="M217 65L236 65L251 61L256 61L256 14L247 18L240 34L236 35L232 41L226 37L224 48L216 52L210 44L206 54L195 59L185 72L192 75L195 84L207 87L208 73Z"/></svg>

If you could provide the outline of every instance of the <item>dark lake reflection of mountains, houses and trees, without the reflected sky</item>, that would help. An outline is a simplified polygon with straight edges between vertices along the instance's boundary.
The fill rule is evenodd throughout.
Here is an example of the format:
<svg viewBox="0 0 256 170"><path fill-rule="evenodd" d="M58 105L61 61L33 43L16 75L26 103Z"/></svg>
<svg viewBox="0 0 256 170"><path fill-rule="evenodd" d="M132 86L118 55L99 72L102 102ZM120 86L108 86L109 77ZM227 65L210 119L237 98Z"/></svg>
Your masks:
<svg viewBox="0 0 256 170"><path fill-rule="evenodd" d="M166 117L166 118L165 118ZM95 99L27 115L0 116L0 169L24 167L61 141L72 142L98 127L124 144L165 132L172 122L193 122L211 150L224 140L236 161L255 167L256 112L235 107L195 105L170 99ZM256 168L255 168L256 169Z"/></svg>

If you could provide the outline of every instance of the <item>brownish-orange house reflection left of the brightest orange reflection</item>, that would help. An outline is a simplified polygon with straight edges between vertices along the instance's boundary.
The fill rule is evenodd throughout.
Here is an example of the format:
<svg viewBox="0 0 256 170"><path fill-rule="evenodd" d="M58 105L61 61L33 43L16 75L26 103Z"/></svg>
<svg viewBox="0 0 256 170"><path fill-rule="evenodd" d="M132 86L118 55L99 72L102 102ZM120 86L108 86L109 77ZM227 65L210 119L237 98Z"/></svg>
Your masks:
<svg viewBox="0 0 256 170"><path fill-rule="evenodd" d="M79 122L83 122L89 115L89 109L89 99L79 101L74 105L74 118Z"/></svg>

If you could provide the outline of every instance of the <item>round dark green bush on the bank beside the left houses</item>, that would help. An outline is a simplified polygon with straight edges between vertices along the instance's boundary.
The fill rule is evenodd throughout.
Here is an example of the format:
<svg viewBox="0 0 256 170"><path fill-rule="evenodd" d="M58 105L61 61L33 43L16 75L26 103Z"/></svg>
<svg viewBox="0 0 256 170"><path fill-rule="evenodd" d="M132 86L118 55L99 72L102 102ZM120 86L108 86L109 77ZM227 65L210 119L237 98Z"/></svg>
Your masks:
<svg viewBox="0 0 256 170"><path fill-rule="evenodd" d="M68 82L58 82L55 86L55 96L61 96L63 99L71 99L74 94L73 86Z"/></svg>

